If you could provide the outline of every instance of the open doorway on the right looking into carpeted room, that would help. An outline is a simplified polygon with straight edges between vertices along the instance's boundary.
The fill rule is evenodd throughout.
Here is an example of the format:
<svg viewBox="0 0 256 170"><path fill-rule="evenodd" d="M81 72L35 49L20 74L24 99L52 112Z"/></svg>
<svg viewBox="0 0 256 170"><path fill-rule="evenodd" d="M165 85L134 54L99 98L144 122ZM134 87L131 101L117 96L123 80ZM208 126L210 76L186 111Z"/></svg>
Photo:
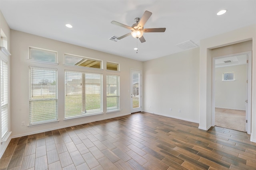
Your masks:
<svg viewBox="0 0 256 170"><path fill-rule="evenodd" d="M213 125L251 130L252 53L213 58Z"/></svg>

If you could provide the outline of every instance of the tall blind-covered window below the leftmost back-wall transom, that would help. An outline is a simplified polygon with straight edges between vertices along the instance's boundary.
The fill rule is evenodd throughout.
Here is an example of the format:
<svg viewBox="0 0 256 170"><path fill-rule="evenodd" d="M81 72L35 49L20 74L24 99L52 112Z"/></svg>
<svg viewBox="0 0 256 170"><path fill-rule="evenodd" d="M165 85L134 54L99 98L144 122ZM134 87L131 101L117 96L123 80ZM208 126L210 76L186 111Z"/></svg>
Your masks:
<svg viewBox="0 0 256 170"><path fill-rule="evenodd" d="M58 121L57 70L30 67L29 124Z"/></svg>

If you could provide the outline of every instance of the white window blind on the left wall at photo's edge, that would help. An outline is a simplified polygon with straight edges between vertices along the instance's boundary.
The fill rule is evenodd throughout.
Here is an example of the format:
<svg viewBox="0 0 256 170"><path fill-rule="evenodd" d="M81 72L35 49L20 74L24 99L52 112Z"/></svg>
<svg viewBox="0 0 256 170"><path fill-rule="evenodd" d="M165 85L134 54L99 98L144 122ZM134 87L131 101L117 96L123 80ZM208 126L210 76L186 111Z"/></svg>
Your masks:
<svg viewBox="0 0 256 170"><path fill-rule="evenodd" d="M8 133L8 64L1 59L1 121L2 139Z"/></svg>

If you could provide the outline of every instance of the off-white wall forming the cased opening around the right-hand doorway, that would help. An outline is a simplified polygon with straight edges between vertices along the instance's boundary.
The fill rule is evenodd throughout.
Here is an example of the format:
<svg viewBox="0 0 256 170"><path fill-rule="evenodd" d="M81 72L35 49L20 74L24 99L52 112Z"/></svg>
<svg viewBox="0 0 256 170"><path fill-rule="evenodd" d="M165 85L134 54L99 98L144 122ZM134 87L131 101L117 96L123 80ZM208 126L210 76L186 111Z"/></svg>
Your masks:
<svg viewBox="0 0 256 170"><path fill-rule="evenodd" d="M212 54L211 49L252 40L252 126L251 141L256 142L256 24L216 35L200 41L200 123L199 128L212 126ZM242 51L241 51L242 52Z"/></svg>

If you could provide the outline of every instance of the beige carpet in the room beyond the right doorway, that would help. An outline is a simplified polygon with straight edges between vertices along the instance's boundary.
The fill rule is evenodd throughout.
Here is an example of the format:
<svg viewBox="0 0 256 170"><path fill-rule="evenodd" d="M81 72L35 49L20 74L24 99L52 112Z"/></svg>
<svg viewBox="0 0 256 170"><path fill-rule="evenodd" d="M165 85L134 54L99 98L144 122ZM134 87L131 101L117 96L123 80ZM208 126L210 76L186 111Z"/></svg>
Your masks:
<svg viewBox="0 0 256 170"><path fill-rule="evenodd" d="M215 125L245 132L246 113L244 110L215 108Z"/></svg>

